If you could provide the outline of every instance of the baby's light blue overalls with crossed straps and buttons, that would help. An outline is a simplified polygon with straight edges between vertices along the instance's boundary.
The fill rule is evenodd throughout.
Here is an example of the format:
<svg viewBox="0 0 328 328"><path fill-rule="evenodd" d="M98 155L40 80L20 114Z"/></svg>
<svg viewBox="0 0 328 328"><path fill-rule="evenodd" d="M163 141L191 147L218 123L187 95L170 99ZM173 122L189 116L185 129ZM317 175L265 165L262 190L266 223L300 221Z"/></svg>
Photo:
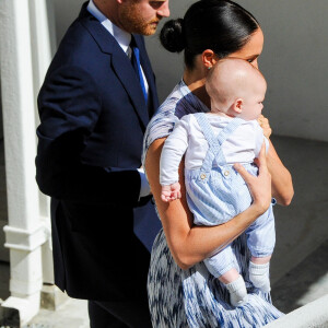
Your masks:
<svg viewBox="0 0 328 328"><path fill-rule="evenodd" d="M204 113L194 114L209 143L209 150L202 166L185 169L187 201L197 225L218 225L233 219L251 204L251 196L242 176L227 164L222 152L223 142L243 124L234 118L223 128L218 137ZM258 174L255 164L243 164L253 175ZM274 203L276 200L272 201ZM270 208L259 216L246 231L247 246L255 257L272 254L276 243L274 216ZM226 246L222 251L204 260L209 271L220 277L232 268L238 268L233 250Z"/></svg>

